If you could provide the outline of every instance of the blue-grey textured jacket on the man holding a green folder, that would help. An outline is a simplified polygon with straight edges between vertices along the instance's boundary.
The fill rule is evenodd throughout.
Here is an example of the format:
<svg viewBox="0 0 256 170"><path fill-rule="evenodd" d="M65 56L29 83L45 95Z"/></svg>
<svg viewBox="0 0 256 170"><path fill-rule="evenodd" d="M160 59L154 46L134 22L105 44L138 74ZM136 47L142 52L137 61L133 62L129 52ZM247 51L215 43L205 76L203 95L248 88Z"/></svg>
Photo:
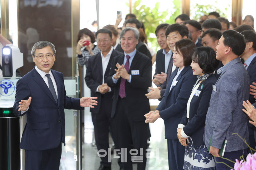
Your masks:
<svg viewBox="0 0 256 170"><path fill-rule="evenodd" d="M204 143L209 146L221 148L227 140L227 152L246 149L248 146L237 135L238 133L249 144L247 116L243 113L243 101L249 99L250 79L240 61L233 59L222 67L222 73L212 91L209 108L206 115Z"/></svg>

